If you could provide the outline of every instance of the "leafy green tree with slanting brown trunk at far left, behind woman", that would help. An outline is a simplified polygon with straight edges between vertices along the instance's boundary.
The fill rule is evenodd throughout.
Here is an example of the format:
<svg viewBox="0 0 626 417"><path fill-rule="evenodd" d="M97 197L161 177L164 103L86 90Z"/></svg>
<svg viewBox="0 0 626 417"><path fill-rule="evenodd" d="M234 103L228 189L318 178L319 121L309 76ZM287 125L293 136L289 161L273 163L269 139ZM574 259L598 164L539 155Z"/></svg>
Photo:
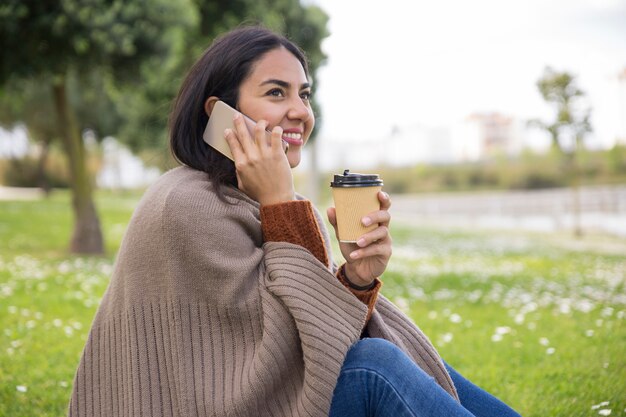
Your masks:
<svg viewBox="0 0 626 417"><path fill-rule="evenodd" d="M167 53L164 35L189 21L186 6L183 0L8 0L0 6L0 93L31 80L42 99L52 99L53 134L63 143L71 174L74 253L102 253L104 246L82 141L81 78L137 79L142 62ZM68 87L73 76L75 97ZM33 123L27 127L34 130Z"/></svg>

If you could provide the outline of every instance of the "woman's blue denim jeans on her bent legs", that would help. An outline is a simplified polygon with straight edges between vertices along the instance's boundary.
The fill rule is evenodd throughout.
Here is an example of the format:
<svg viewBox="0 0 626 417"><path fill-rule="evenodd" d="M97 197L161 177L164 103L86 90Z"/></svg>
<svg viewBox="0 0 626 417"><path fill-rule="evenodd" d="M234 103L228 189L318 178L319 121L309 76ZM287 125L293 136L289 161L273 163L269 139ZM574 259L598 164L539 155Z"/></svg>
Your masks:
<svg viewBox="0 0 626 417"><path fill-rule="evenodd" d="M330 417L509 417L519 414L446 364L457 402L397 346L362 339L344 361Z"/></svg>

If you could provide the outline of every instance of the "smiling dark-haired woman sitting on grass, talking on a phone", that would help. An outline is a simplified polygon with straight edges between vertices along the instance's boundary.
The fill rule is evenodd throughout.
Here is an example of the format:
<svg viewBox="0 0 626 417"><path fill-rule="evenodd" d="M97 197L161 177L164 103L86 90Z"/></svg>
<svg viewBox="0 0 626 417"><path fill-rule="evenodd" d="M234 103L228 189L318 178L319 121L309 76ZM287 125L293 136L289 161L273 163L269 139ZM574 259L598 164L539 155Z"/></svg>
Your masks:
<svg viewBox="0 0 626 417"><path fill-rule="evenodd" d="M70 415L516 415L446 369L378 295L391 256L385 193L363 219L379 226L332 262L291 175L314 126L310 94L302 52L258 27L224 35L193 66L170 117L184 166L133 215ZM239 115L225 132L234 164L202 139L217 100L258 121L250 133Z"/></svg>

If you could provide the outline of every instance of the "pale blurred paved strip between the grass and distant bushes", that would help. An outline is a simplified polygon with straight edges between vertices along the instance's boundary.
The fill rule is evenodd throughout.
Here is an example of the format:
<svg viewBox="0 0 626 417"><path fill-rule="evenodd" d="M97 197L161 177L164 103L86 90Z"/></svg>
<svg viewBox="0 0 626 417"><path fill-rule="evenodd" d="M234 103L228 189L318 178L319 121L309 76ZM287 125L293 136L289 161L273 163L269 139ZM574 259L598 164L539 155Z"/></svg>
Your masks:
<svg viewBox="0 0 626 417"><path fill-rule="evenodd" d="M573 208L578 200L580 214ZM573 230L626 237L626 186L392 196L394 219L419 225Z"/></svg>

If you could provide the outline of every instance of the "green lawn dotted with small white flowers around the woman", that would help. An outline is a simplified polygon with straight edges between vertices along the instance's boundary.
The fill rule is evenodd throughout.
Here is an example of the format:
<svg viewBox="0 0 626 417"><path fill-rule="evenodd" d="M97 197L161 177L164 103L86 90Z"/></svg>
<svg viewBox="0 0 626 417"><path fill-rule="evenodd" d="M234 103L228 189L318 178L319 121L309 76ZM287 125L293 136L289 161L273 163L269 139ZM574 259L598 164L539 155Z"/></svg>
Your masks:
<svg viewBox="0 0 626 417"><path fill-rule="evenodd" d="M76 257L67 194L0 202L0 416L65 415L136 203L99 195L107 255ZM383 293L459 372L524 416L626 415L626 241L392 233Z"/></svg>

